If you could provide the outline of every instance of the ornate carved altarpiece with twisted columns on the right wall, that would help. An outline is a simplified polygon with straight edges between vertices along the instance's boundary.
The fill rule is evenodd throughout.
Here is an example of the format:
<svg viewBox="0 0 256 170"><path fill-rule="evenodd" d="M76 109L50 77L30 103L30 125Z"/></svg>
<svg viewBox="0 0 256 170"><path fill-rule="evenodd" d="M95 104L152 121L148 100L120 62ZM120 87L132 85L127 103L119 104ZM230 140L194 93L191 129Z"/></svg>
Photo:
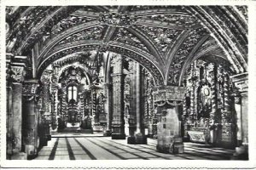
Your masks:
<svg viewBox="0 0 256 170"><path fill-rule="evenodd" d="M187 71L184 86L187 89L183 122L189 125L190 130L197 131L197 127L216 130L223 127L229 130L234 127L236 119L231 96L232 82L222 66L195 60ZM223 141L220 139L218 142L233 143L234 132L226 135L225 130L218 134L223 136Z"/></svg>

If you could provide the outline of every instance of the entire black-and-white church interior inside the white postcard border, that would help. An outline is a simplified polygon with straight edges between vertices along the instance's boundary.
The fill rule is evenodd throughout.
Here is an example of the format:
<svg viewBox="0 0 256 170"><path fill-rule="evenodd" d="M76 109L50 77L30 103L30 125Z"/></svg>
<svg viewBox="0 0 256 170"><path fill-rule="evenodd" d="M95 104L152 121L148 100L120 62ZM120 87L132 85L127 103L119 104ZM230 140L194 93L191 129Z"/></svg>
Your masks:
<svg viewBox="0 0 256 170"><path fill-rule="evenodd" d="M6 159L247 160L247 6L8 6Z"/></svg>

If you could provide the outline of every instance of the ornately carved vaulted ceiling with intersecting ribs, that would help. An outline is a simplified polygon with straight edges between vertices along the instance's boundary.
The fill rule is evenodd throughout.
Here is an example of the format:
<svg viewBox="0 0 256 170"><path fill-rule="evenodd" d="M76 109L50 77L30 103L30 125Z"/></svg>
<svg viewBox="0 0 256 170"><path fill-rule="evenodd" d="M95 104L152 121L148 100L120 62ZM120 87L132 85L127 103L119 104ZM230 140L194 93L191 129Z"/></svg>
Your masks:
<svg viewBox="0 0 256 170"><path fill-rule="evenodd" d="M90 50L135 59L158 84L180 85L199 58L247 71L245 6L8 7L6 22L7 52L28 56L38 76L56 59Z"/></svg>

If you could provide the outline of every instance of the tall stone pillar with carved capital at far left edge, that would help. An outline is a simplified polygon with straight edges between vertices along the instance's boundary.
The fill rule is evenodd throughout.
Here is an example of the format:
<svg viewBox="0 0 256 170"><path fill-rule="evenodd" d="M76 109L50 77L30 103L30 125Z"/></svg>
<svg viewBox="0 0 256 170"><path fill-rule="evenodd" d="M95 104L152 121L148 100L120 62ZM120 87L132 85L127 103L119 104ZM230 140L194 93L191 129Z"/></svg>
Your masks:
<svg viewBox="0 0 256 170"><path fill-rule="evenodd" d="M7 54L7 159L24 159L22 150L22 82L26 57ZM20 60L17 60L20 59Z"/></svg>

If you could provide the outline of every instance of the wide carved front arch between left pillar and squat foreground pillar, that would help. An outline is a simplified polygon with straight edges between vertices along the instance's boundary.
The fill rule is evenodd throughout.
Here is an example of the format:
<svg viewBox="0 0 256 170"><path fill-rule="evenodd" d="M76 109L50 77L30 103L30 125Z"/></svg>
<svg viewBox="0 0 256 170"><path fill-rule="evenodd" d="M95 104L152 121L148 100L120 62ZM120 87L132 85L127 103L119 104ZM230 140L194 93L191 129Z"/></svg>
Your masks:
<svg viewBox="0 0 256 170"><path fill-rule="evenodd" d="M41 59L38 63L38 77L42 74L44 69L49 65L49 63L55 61L56 59L61 59L67 54L73 54L77 52L97 50L101 48L102 45L106 45L102 41L78 41L66 44L61 44L56 46L56 48L49 53L47 57ZM148 54L141 50L140 48L124 44L121 42L108 42L108 51L113 53L122 54L125 57L136 60L139 64L143 65L154 77L156 85L164 84L164 71L163 66L160 65L157 59L152 54Z"/></svg>

